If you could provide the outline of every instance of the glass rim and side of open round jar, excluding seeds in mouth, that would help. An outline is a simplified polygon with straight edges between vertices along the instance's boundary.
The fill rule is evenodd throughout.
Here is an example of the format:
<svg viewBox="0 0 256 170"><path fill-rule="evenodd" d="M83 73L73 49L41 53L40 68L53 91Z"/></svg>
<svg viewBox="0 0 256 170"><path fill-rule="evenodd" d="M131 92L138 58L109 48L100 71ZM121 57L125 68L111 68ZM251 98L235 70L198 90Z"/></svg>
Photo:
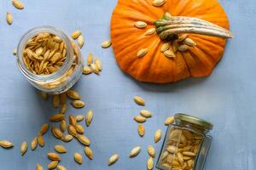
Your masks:
<svg viewBox="0 0 256 170"><path fill-rule="evenodd" d="M62 62L63 64L57 71L48 75L38 75L29 71L23 59L23 53L27 42L29 42L32 37L38 36L42 33L49 33L56 37L60 37L66 48L66 59ZM26 77L28 82L30 82L35 88L49 94L61 94L71 88L79 81L79 77L81 77L84 67L78 45L63 31L52 26L33 28L21 37L17 48L17 64L21 73Z"/></svg>

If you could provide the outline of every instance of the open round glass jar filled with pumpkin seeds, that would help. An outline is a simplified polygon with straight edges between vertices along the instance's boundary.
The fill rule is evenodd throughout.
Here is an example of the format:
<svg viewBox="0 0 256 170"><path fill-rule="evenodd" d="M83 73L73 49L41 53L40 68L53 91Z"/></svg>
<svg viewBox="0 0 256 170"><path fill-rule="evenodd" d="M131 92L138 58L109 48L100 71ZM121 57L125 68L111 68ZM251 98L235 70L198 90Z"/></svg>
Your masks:
<svg viewBox="0 0 256 170"><path fill-rule="evenodd" d="M53 49L49 50L48 52L49 55L54 56L55 52L58 50L61 56L65 55L59 61L55 61L61 63L61 66L55 66L51 63L51 61L43 61L43 59L45 58L45 53L47 53L45 52L46 50L44 50L44 47L43 54L36 56L35 61L25 58L28 53L27 50L29 50L31 54L35 54L31 52L32 50L27 49L27 44L31 44L31 46L36 46L32 46L31 49L40 48L41 43L35 45L37 42L33 42L33 37L42 38L42 40L38 40L39 38L37 38L37 40L38 42L42 41L42 45L44 45L46 41L45 39L49 35L54 35L55 37L57 37L55 38L56 42L63 43L61 45L57 44L57 48L53 47ZM54 45L55 42L53 41L52 43ZM30 46L28 46L28 48L30 48ZM42 50L39 49L38 51L41 52ZM35 63L32 64L32 61L40 65L40 69L41 67L48 64L49 69L47 71L50 70L51 72L48 72L49 74L38 74L38 72L32 70L32 68L35 68L36 65ZM60 31L55 27L51 26L33 28L32 30L27 31L26 34L23 37L21 37L17 48L17 63L21 73L26 77L28 82L30 82L35 88L38 88L39 90L49 94L61 94L67 91L67 89L71 88L76 82L78 82L79 77L81 77L84 66L78 45L75 42L73 42L63 31Z"/></svg>

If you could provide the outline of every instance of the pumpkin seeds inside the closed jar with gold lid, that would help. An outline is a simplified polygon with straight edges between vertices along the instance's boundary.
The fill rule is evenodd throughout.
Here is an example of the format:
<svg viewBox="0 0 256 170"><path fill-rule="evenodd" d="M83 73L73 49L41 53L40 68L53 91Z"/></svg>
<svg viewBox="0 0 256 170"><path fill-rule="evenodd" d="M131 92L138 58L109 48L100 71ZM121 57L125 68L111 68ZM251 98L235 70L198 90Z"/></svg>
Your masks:
<svg viewBox="0 0 256 170"><path fill-rule="evenodd" d="M172 127L166 138L166 146L160 156L161 167L193 169L202 141L201 134Z"/></svg>

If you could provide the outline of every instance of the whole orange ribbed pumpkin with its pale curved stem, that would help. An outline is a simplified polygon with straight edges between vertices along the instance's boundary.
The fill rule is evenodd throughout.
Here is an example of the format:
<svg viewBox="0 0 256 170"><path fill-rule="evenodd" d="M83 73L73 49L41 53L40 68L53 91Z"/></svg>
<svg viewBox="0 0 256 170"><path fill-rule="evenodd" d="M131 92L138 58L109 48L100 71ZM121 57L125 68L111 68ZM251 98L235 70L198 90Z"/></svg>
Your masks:
<svg viewBox="0 0 256 170"><path fill-rule="evenodd" d="M153 1L119 0L113 10L111 40L121 69L142 82L210 75L232 37L218 0L166 0L160 7ZM194 44L180 41L186 34ZM168 52L161 51L164 43Z"/></svg>

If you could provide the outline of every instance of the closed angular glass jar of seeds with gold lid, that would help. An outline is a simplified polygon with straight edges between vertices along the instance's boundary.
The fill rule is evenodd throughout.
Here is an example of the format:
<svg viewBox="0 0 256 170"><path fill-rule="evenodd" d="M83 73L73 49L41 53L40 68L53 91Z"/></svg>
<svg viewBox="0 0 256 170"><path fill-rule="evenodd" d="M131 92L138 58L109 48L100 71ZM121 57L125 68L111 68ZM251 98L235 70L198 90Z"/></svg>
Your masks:
<svg viewBox="0 0 256 170"><path fill-rule="evenodd" d="M212 137L212 123L195 116L176 114L166 132L156 167L161 170L202 170Z"/></svg>

